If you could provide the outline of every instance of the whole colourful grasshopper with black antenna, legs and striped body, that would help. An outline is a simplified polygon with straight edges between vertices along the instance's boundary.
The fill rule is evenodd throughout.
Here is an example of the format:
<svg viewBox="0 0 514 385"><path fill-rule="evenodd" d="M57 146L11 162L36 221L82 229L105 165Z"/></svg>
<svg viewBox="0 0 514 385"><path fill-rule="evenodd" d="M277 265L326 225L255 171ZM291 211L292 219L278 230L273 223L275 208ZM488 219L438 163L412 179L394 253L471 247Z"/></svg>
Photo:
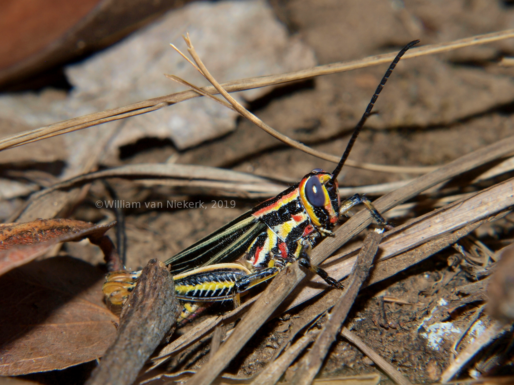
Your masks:
<svg viewBox="0 0 514 385"><path fill-rule="evenodd" d="M339 218L357 204L363 203L379 225L386 225L368 198L356 194L340 202L337 176L400 57L418 42L405 46L391 63L332 174L314 169L300 183L165 262L171 264L179 299L193 302L233 299L237 305L241 293L277 275L296 260L329 285L343 287L322 268L310 263L309 252L316 240L332 235ZM237 260L240 263L234 263ZM111 303L123 303L137 284L140 273L123 271L107 275L103 291ZM196 307L198 305L186 305L182 318L187 318Z"/></svg>

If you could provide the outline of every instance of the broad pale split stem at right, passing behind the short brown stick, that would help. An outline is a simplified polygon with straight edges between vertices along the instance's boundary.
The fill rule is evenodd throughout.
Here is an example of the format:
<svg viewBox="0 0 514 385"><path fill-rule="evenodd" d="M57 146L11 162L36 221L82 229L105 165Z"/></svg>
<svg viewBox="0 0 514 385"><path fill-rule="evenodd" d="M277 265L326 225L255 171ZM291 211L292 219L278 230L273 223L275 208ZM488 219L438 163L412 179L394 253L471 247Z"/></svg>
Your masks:
<svg viewBox="0 0 514 385"><path fill-rule="evenodd" d="M418 263L420 261L419 258L428 258L430 255L440 251L440 249L455 243L458 238L454 239L453 234L458 234L459 229L489 218L514 205L513 189L513 180L509 179L483 191L476 192L473 196L453 202L421 217L414 218L385 233L384 239L379 246L377 263L369 284L377 282L379 277L380 280L388 278ZM433 231L432 228L434 229ZM446 234L448 234L451 243L448 243L445 237L441 238ZM464 235L461 235L461 237ZM432 240L434 242L430 243ZM328 259L323 268L335 279L343 279L350 274L357 258L355 256L345 257L351 255L357 249L358 247ZM400 263L396 258L398 256L404 259L405 255L410 255L410 257L405 258L406 263ZM388 267L387 274L384 275L381 266L383 264L384 266L389 265L386 262L390 258L395 260L391 262L393 269ZM341 259L343 260L338 262ZM311 278L311 281L316 283L323 282L318 277ZM288 309L313 298L322 291L323 288L317 287L316 284L301 285L299 293L295 293L295 298L289 304Z"/></svg>

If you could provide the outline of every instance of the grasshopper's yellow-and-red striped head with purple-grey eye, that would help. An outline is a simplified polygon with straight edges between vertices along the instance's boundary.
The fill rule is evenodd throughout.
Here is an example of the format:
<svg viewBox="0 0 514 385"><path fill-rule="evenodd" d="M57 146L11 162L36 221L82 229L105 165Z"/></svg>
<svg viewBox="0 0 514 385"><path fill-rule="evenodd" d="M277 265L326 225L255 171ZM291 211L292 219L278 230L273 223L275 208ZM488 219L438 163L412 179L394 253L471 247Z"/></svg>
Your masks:
<svg viewBox="0 0 514 385"><path fill-rule="evenodd" d="M319 168L300 181L300 198L310 221L315 226L333 227L339 217L339 189L332 174Z"/></svg>

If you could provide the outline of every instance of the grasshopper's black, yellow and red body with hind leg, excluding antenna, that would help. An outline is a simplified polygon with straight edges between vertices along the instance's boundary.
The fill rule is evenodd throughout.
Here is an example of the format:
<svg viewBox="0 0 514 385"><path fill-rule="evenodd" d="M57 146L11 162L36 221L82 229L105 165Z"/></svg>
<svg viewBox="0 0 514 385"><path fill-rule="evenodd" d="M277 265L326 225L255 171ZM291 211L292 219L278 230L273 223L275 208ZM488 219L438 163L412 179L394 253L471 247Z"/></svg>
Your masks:
<svg viewBox="0 0 514 385"><path fill-rule="evenodd" d="M177 297L201 302L231 299L298 259L306 241L311 246L337 221L337 185L335 194L323 192L325 207L313 207L306 198L311 178L320 185L329 176L323 171L307 174L300 183L168 259ZM240 257L241 264L233 263ZM122 303L137 283L138 272L127 272L125 279L120 274L109 274L104 285L113 303Z"/></svg>

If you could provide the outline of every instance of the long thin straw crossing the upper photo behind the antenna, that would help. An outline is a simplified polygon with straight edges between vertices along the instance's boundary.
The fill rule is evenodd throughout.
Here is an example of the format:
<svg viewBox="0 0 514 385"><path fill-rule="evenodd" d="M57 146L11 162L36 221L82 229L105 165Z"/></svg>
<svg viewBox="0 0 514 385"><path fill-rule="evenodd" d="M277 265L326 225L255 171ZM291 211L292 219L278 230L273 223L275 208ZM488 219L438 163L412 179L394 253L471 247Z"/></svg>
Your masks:
<svg viewBox="0 0 514 385"><path fill-rule="evenodd" d="M440 43L440 44L432 44L421 46L417 48L412 48L403 55L403 59L409 59L410 57L417 57L421 55L427 54L435 54L439 52L446 52L458 48L468 47L477 44L487 44L490 42L502 40L505 38L514 37L514 30L505 30L500 32L486 33L482 35L476 35L472 37L467 37L460 40L455 40L453 42L448 43ZM265 87L275 84L281 84L291 81L303 80L312 78L313 76L320 76L325 74L331 74L336 72L350 71L357 68L364 68L369 66L374 66L383 63L389 63L394 56L394 53L386 53L376 56L365 57L361 60L355 60L350 62L343 63L333 63L323 66L317 66L307 70L295 71L285 74L278 75L269 75L269 76L261 76L259 78L248 78L243 80L231 81L224 83L222 87L228 92L236 92L242 91L246 89ZM207 93L216 93L214 87L204 87L204 91ZM48 126L36 128L33 130L23 131L11 136L5 137L0 140L0 150L19 146L27 143L32 143L34 141L39 141L42 139L51 138L63 133L72 132L80 129L84 129L87 127L99 125L106 122L111 122L114 120L128 118L134 115L154 111L159 108L167 107L169 105L179 103L185 100L189 100L192 98L199 97L200 94L196 91L182 91L177 92L170 95L165 95L159 98L153 98L137 103L133 103L124 107L112 108L100 112L96 112L93 114L84 115L82 117L69 119L66 121L54 123ZM324 159L324 158L323 158ZM359 162L350 162L347 161L346 164L348 166L363 166L363 164ZM385 166L381 165L382 170L387 171L391 170L390 167L394 166ZM375 168L373 168L375 169ZM376 169L379 171L379 169ZM418 173L421 172L419 168L416 171L416 167L412 168L412 171L392 171L392 172L413 172ZM391 172L391 171L388 171ZM424 170L423 172L427 172Z"/></svg>

